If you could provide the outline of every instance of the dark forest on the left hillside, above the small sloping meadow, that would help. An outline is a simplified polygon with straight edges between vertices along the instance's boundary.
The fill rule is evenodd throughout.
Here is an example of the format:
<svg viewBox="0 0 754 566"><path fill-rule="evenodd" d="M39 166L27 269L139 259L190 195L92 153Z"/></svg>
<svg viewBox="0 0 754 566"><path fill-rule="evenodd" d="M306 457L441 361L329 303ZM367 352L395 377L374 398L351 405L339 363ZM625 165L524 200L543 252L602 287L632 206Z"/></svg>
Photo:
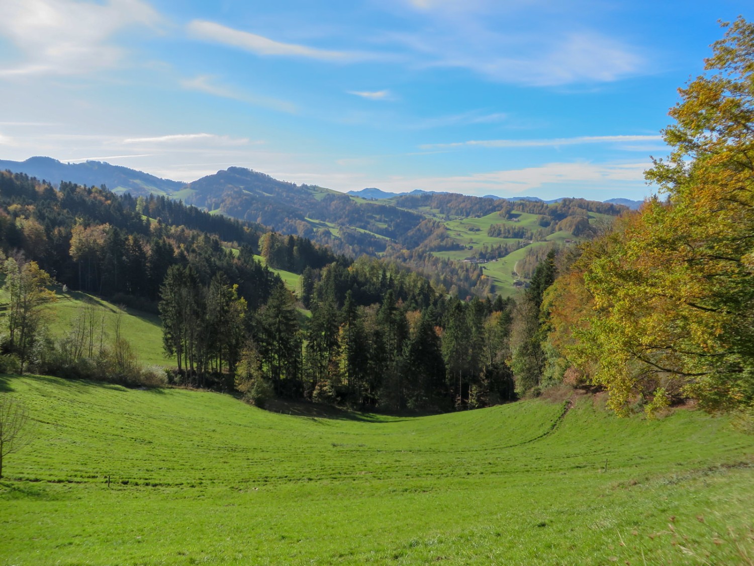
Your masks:
<svg viewBox="0 0 754 566"><path fill-rule="evenodd" d="M153 215L153 216L152 216ZM0 249L23 251L68 288L154 310L171 266L191 267L202 285L222 272L256 307L280 279L272 267L300 272L336 257L307 238L280 237L164 197L131 198L103 187L54 189L0 172Z"/></svg>

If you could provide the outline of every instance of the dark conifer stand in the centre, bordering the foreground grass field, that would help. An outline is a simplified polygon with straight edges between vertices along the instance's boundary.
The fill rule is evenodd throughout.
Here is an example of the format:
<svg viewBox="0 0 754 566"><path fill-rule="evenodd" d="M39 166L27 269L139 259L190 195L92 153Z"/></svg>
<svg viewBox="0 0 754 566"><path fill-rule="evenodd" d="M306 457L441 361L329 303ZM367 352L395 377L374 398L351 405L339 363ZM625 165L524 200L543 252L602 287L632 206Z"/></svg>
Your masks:
<svg viewBox="0 0 754 566"><path fill-rule="evenodd" d="M311 318L275 287L249 308L218 276L201 285L173 266L161 288L173 380L271 396L391 410L449 411L516 397L511 300L438 295L421 276L360 258L305 269ZM302 283L302 287L307 285Z"/></svg>

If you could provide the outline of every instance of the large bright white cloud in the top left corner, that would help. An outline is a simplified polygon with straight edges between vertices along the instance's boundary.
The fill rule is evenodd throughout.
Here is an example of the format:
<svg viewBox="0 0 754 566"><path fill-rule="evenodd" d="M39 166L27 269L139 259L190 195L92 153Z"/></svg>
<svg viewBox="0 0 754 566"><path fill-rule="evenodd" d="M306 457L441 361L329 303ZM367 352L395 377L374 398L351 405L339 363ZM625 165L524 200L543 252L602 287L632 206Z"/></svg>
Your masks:
<svg viewBox="0 0 754 566"><path fill-rule="evenodd" d="M18 66L0 69L8 78L76 74L115 66L123 51L109 43L127 26L155 26L161 17L141 0L106 4L74 0L2 0L0 35L25 55Z"/></svg>

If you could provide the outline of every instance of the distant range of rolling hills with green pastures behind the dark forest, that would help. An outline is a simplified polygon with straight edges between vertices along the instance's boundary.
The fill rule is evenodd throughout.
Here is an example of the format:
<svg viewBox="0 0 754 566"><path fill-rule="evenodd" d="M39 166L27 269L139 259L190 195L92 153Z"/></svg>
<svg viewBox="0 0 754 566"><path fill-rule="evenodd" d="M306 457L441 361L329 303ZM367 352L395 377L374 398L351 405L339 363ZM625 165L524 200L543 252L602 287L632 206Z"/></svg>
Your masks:
<svg viewBox="0 0 754 566"><path fill-rule="evenodd" d="M625 210L621 205L576 198L553 201L534 197L504 199L492 195L480 198L420 189L392 195L372 188L346 195L320 186L287 183L238 167L188 184L161 180L99 161L71 165L35 157L23 162L0 161L0 168L87 185L104 183L115 187L117 192L134 195L168 196L212 214L224 214L284 234L310 238L329 246L337 254L384 255L412 269L422 269L429 277L441 272L438 276L443 278L443 285L462 289L464 297L492 292L512 294L516 285L525 283L528 273L524 273L522 279L520 275L512 275L513 266L502 267L502 264L489 269L480 267L473 273L446 260L470 259L476 265L500 259L539 241L578 241L587 235L584 226L574 228L579 218L593 223L598 219L596 214L615 216ZM621 201L621 204L636 205L633 201ZM510 214L513 210L517 214ZM572 221L564 224L567 218ZM492 224L498 226L498 233L486 232ZM510 235L513 229L523 226L527 228L526 233ZM467 229L477 232L470 233ZM429 254L441 261L428 264L421 257L410 259L406 251ZM484 269L488 271L484 275L489 275L491 281L481 278Z"/></svg>

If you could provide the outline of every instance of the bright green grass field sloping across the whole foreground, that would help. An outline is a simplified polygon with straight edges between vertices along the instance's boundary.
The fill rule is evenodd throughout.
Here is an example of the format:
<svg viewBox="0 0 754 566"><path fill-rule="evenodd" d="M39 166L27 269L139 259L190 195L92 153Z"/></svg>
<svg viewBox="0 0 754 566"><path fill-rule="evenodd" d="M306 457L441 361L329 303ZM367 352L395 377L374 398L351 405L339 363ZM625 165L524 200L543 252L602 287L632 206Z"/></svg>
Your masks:
<svg viewBox="0 0 754 566"><path fill-rule="evenodd" d="M752 437L697 411L620 420L584 396L321 418L51 377L0 389L35 420L0 480L0 564L754 557Z"/></svg>

